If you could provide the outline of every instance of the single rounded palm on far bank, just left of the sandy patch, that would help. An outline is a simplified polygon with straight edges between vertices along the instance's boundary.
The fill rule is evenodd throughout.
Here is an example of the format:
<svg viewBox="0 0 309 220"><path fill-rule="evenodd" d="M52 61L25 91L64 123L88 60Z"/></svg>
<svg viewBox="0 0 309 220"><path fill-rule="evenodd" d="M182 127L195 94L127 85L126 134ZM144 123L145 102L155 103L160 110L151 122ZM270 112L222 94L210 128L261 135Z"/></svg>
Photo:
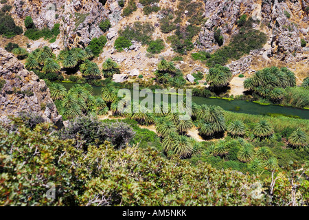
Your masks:
<svg viewBox="0 0 309 220"><path fill-rule="evenodd" d="M231 71L228 67L216 65L209 69L209 74L206 75L206 81L211 87L225 87L231 81Z"/></svg>

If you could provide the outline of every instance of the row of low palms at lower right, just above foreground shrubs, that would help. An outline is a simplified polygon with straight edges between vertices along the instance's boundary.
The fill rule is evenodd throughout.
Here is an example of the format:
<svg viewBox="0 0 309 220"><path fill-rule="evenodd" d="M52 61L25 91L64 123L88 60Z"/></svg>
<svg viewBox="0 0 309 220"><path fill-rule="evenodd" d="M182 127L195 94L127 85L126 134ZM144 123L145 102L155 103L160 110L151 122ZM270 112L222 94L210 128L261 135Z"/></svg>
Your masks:
<svg viewBox="0 0 309 220"><path fill-rule="evenodd" d="M206 152L212 155L226 157L230 151L235 152L240 162L249 163L249 166L256 169L273 169L277 167L277 159L271 150L266 146L258 147L255 150L252 144L242 138L236 140L220 140L207 148Z"/></svg>

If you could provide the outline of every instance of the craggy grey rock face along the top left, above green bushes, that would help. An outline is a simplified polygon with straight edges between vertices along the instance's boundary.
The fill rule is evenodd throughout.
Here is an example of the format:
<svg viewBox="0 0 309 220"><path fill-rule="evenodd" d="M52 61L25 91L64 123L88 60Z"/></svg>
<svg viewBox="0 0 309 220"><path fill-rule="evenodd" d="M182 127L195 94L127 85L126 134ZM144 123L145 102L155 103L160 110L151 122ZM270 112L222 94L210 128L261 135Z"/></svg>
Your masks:
<svg viewBox="0 0 309 220"><path fill-rule="evenodd" d="M37 28L53 28L60 23L60 35L65 47L86 47L92 38L99 37L101 21L109 19L111 25L118 23L121 8L117 0L105 5L99 0L20 0L14 1L12 14L21 21L31 16Z"/></svg>

